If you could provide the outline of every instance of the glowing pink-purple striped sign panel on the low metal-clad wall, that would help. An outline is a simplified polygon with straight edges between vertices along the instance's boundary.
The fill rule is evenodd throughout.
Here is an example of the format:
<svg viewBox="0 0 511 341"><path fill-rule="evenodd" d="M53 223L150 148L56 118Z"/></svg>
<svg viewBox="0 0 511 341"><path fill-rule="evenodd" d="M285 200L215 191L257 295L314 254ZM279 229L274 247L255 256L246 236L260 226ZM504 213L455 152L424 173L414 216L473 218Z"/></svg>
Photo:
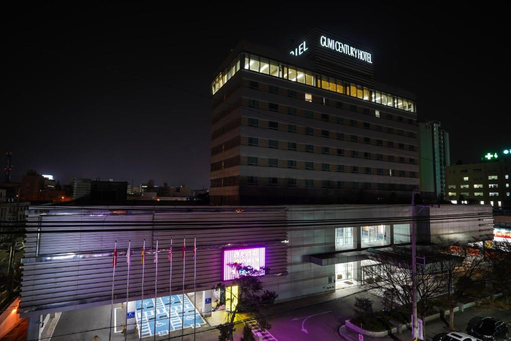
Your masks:
<svg viewBox="0 0 511 341"><path fill-rule="evenodd" d="M240 278L240 274L235 268L227 265L233 263L243 264L243 266L251 266L255 270L259 270L265 266L265 247L245 247L245 248L229 248L224 250L224 281L235 280ZM261 271L261 276L264 270Z"/></svg>

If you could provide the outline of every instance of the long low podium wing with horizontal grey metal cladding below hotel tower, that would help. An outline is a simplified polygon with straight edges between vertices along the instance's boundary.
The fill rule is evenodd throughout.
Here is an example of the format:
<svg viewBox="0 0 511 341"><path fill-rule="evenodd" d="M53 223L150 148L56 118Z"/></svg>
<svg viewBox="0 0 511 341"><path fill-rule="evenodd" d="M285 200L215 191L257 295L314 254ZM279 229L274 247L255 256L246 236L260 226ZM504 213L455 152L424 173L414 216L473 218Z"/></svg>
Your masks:
<svg viewBox="0 0 511 341"><path fill-rule="evenodd" d="M490 206L424 207L417 213L421 216L417 220L418 242L438 242L440 238L461 243L493 239ZM364 281L364 266L374 264L369 259L369 248L409 243L410 217L410 206L399 204L221 208L34 206L28 212L19 311L37 321L45 313L109 305L115 241L118 261L113 277L114 303L126 300L128 241L132 255L130 301L141 299L142 287L146 295L155 294L155 285L157 295L168 295L169 278L172 292L202 292L203 297L212 297L212 287L219 282L228 285L232 279L233 274L226 272L226 262L233 252L247 262L269 268L262 281L264 289L278 294L277 300L334 291ZM190 225L183 226L183 221ZM162 224L165 229L158 228ZM85 232L84 225L96 226L98 231ZM123 231L104 232L103 226L107 229L119 226ZM47 233L59 229L67 232ZM74 229L77 231L69 232ZM144 240L147 259L143 281ZM168 257L171 240L172 258ZM157 278L153 262L156 241L160 255ZM169 259L173 259L172 276ZM184 288L183 262L188 269ZM211 306L202 309L208 310L211 311Z"/></svg>

